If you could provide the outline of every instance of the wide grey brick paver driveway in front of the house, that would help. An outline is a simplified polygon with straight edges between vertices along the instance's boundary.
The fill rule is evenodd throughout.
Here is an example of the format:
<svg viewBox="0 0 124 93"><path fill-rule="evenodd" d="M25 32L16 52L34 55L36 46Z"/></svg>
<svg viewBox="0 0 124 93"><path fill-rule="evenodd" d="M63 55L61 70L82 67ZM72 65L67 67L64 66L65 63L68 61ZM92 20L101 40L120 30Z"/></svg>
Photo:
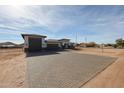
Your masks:
<svg viewBox="0 0 124 93"><path fill-rule="evenodd" d="M69 51L33 53L27 57L29 87L81 87L116 58Z"/></svg>

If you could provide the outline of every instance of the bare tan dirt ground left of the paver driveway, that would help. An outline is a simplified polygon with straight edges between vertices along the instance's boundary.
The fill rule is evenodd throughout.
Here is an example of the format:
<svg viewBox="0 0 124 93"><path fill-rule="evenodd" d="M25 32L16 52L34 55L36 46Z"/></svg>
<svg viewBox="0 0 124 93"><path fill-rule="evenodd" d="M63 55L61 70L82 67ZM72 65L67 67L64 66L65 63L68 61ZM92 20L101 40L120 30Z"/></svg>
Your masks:
<svg viewBox="0 0 124 93"><path fill-rule="evenodd" d="M25 69L22 49L0 49L0 87L25 87Z"/></svg>

